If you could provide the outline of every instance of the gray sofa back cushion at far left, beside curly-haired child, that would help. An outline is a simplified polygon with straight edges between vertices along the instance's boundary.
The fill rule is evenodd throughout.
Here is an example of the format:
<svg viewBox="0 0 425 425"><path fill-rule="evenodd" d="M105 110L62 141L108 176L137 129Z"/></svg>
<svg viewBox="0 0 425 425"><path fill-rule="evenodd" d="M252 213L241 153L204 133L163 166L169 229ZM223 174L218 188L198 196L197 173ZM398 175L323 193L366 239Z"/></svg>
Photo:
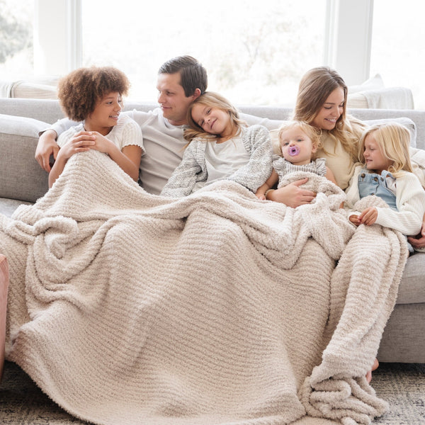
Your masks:
<svg viewBox="0 0 425 425"><path fill-rule="evenodd" d="M34 158L38 132L46 126L33 118L0 114L0 197L35 202L46 193L48 174Z"/></svg>

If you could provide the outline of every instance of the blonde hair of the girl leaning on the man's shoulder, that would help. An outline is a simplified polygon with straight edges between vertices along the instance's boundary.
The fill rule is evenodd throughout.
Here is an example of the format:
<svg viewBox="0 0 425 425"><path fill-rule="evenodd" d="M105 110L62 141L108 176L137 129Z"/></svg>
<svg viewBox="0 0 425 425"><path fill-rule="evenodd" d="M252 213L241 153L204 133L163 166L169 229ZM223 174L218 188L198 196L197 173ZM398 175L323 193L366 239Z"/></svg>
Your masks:
<svg viewBox="0 0 425 425"><path fill-rule="evenodd" d="M189 142L191 142L191 140L195 139L196 137L203 137L204 139L210 140L215 140L218 137L217 135L212 135L206 132L202 127L200 127L200 125L198 125L198 123L195 123L192 118L192 110L196 105L210 106L212 108L218 108L227 112L236 134L239 133L239 130L242 126L246 126L246 123L239 118L239 112L237 111L237 108L235 108L232 103L227 100L227 98L224 98L220 94L214 93L212 91L205 91L205 93L196 98L188 108L187 120L190 128L186 128L184 130L183 137Z"/></svg>

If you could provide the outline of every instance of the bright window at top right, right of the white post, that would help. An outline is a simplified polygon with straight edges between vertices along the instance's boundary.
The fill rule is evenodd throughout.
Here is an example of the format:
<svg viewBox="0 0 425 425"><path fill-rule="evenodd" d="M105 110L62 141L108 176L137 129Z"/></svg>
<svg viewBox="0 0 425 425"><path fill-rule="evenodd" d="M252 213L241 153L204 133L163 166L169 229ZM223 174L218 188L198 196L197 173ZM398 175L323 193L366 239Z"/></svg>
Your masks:
<svg viewBox="0 0 425 425"><path fill-rule="evenodd" d="M374 1L370 75L379 73L387 87L409 87L416 109L425 109L424 14L421 1Z"/></svg>

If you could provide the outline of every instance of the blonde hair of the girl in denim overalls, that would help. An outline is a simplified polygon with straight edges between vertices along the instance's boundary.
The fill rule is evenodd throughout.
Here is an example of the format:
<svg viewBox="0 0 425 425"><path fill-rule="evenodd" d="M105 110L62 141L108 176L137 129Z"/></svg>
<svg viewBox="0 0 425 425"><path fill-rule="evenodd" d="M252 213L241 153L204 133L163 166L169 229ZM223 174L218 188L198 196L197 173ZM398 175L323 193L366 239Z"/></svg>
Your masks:
<svg viewBox="0 0 425 425"><path fill-rule="evenodd" d="M373 135L378 143L382 156L392 162L388 167L388 171L390 171L395 178L402 176L402 171L413 173L409 154L410 132L404 125L399 123L376 124L363 132L358 146L358 157L363 164L365 164L365 157L363 154L365 140L368 135Z"/></svg>

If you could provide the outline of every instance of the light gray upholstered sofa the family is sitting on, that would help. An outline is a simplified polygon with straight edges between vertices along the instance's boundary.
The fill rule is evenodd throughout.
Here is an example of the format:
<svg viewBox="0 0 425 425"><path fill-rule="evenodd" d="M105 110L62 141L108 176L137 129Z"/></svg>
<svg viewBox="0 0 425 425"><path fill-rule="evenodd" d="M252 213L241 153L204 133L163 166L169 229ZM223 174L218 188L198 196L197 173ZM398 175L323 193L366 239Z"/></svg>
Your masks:
<svg viewBox="0 0 425 425"><path fill-rule="evenodd" d="M125 109L149 111L154 103L128 102ZM290 118L290 109L240 106L243 113L269 120ZM352 109L361 120L406 117L414 122L416 147L425 149L425 111ZM38 132L62 118L56 100L0 99L0 212L11 215L20 203L33 203L47 191L47 174L34 159ZM268 121L269 128L278 121ZM425 254L409 257L397 305L385 328L381 362L425 363Z"/></svg>

